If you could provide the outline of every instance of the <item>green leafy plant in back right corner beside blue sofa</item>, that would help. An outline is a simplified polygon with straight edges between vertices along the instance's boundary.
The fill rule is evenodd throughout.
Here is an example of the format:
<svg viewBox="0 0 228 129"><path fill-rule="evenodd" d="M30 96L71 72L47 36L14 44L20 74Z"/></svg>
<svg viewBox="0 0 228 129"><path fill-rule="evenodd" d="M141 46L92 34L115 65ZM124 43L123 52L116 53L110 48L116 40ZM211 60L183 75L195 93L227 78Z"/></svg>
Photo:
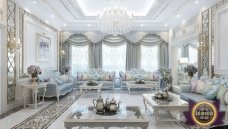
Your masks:
<svg viewBox="0 0 228 129"><path fill-rule="evenodd" d="M161 78L165 81L166 85L172 84L173 77L170 69L161 68L159 72L160 72Z"/></svg>

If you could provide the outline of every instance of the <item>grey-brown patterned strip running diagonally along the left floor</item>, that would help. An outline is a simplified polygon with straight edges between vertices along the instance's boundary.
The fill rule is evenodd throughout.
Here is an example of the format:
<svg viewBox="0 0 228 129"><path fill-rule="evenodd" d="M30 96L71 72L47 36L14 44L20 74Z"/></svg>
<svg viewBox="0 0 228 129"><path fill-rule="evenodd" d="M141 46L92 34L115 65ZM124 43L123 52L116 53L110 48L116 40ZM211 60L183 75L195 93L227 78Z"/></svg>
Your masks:
<svg viewBox="0 0 228 129"><path fill-rule="evenodd" d="M41 109L12 129L46 129L76 100L78 100L79 97L79 91L73 91L69 95L65 95L60 101L56 101Z"/></svg>

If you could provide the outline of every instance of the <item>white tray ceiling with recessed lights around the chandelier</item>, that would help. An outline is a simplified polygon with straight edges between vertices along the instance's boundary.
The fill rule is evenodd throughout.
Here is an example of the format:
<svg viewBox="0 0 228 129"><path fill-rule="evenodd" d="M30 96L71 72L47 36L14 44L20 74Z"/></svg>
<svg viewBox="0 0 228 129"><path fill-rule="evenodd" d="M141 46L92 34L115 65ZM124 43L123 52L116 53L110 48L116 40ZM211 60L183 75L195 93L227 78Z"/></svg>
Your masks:
<svg viewBox="0 0 228 129"><path fill-rule="evenodd" d="M181 25L217 0L15 0L50 25L67 31L97 31L96 16L105 7L134 13L135 30L163 31ZM180 17L177 18L177 15ZM166 24L168 26L166 26Z"/></svg>

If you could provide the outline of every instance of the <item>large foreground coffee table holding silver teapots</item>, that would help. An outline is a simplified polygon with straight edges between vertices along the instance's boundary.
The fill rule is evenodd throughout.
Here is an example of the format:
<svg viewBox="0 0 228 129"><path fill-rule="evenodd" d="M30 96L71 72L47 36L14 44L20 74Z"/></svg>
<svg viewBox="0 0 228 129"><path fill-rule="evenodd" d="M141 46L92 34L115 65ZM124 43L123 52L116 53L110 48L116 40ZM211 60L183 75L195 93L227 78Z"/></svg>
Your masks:
<svg viewBox="0 0 228 129"><path fill-rule="evenodd" d="M147 129L149 120L137 106L120 106L120 112L111 116L98 115L94 107L79 106L64 120L66 129L73 127L140 127Z"/></svg>

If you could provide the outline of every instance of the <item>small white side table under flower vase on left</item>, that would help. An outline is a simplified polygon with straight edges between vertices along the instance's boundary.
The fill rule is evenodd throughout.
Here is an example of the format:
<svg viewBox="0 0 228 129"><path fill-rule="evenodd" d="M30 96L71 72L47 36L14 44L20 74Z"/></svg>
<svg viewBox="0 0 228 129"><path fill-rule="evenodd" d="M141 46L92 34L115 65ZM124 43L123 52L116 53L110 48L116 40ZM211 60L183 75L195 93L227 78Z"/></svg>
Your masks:
<svg viewBox="0 0 228 129"><path fill-rule="evenodd" d="M44 102L44 95L46 93L46 86L47 86L47 83L30 83L30 84L21 84L21 87L22 87L22 90L23 90L23 97L24 97L24 108L26 107L26 105L28 106L33 106L35 108L37 108L38 105L43 105L43 102ZM37 102L37 93L38 93L38 90L43 88L44 90L44 93L43 93L43 99L41 102ZM32 104L26 104L26 95L25 95L25 90L26 89L30 89L32 90L32 101L33 103Z"/></svg>

